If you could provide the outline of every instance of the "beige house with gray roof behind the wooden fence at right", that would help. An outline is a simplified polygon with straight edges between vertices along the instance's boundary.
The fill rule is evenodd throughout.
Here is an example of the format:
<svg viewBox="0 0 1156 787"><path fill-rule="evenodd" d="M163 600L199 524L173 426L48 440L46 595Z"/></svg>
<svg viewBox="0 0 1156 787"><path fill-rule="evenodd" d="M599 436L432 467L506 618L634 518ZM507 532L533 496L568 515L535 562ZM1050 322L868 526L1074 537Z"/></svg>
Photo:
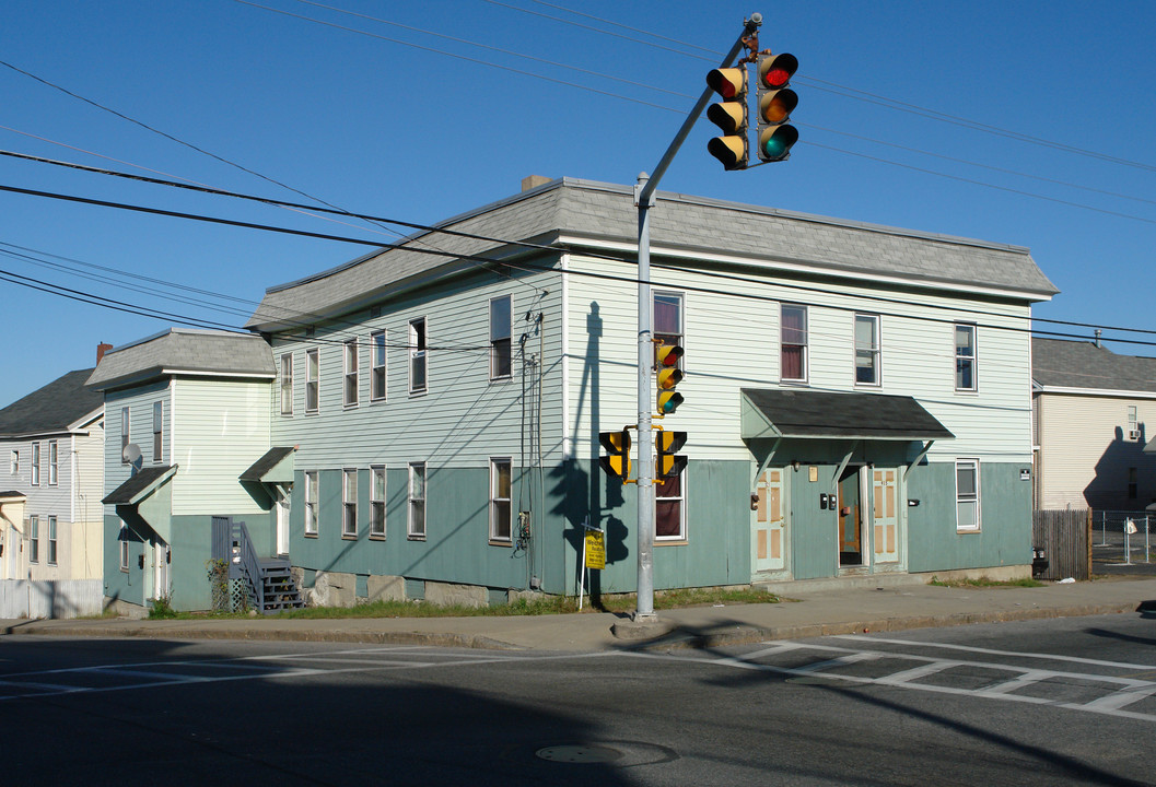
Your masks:
<svg viewBox="0 0 1156 787"><path fill-rule="evenodd" d="M1037 508L1141 511L1156 502L1156 358L1032 339Z"/></svg>

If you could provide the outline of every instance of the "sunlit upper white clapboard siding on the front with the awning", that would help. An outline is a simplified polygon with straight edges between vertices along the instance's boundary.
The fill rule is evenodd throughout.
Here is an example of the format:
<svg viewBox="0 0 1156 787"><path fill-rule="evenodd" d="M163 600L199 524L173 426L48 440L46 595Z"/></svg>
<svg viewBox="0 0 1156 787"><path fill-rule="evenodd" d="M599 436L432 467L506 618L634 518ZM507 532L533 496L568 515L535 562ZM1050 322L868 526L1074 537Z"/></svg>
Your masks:
<svg viewBox="0 0 1156 787"><path fill-rule="evenodd" d="M628 276L632 270L580 257L570 265L601 275ZM1027 306L854 284L736 283L667 268L652 270L652 280L655 291L701 288L683 291L687 377L679 391L687 401L668 422L691 435L686 453L692 458L749 459L740 436L739 391L779 385L780 303L808 307L808 387L914 396L956 435L955 440L938 443L933 458L1031 458ZM581 441L637 418L637 285L575 274L568 279L568 294L566 430ZM744 297L751 295L758 297ZM585 349L595 310L601 332L596 371ZM977 318L976 310L986 313ZM857 311L881 317L881 386L854 383ZM955 391L954 320L980 324L978 393ZM594 379L598 388L591 389Z"/></svg>

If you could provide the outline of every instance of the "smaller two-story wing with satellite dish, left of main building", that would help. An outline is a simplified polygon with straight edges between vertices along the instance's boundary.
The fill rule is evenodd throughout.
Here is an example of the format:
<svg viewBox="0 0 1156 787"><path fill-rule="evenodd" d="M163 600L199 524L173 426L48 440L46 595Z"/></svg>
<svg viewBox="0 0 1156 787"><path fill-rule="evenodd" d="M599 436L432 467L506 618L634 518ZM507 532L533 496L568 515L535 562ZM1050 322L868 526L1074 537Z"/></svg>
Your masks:
<svg viewBox="0 0 1156 787"><path fill-rule="evenodd" d="M272 502L242 475L269 448L273 361L260 337L172 328L117 347L88 379L108 414L104 594L126 609L212 606L213 517L272 554Z"/></svg>

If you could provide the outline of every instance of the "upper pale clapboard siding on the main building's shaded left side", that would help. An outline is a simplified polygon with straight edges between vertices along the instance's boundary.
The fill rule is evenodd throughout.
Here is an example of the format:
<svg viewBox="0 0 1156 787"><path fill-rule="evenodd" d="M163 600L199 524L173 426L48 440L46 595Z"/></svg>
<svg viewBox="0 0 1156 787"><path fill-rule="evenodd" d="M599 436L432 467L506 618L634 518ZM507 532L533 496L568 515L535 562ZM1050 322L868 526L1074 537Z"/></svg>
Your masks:
<svg viewBox="0 0 1156 787"><path fill-rule="evenodd" d="M535 285L531 285L533 282ZM548 292L542 292L544 288ZM489 304L512 297L513 377L490 380ZM527 321L526 314L532 319ZM543 315L536 322L536 315ZM409 393L409 324L424 318L427 392ZM557 274L501 279L473 289L436 288L425 297L386 305L340 324L319 325L312 337L303 329L275 336L273 357L292 355L292 415L281 415L280 381L272 386L269 408L274 445L298 446L298 468L401 466L428 461L442 467L481 467L489 456L518 456L538 431L536 377L526 364L544 351L542 436L547 454L560 451L562 347L561 287ZM370 335L386 332L386 399L370 401ZM540 346L540 334L542 344ZM526 334L525 343L519 342ZM358 340L358 403L347 407L344 344ZM320 396L317 414L305 413L305 355L317 349ZM524 371L526 374L524 376ZM524 406L524 386L526 391Z"/></svg>

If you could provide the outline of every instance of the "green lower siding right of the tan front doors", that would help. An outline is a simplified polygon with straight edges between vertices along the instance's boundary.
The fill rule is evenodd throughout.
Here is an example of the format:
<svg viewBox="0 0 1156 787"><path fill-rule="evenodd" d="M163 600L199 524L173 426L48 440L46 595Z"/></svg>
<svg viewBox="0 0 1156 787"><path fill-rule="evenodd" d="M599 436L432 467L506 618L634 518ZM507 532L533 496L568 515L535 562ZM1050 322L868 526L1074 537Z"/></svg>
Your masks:
<svg viewBox="0 0 1156 787"><path fill-rule="evenodd" d="M1028 465L980 465L978 533L956 530L955 463L917 467L909 478L909 566L913 572L984 569L1031 563L1031 482L1020 480Z"/></svg>

